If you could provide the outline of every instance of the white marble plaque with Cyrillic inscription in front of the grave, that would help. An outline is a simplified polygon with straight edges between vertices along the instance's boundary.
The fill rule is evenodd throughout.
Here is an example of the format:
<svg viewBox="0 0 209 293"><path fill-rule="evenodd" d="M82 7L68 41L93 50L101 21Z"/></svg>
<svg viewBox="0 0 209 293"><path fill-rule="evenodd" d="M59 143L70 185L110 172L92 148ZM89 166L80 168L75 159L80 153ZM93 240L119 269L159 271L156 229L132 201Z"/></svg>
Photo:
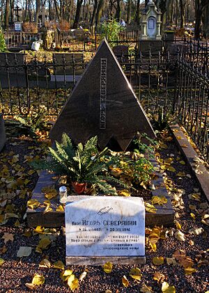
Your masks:
<svg viewBox="0 0 209 293"><path fill-rule="evenodd" d="M90 196L65 206L66 256L145 255L142 198Z"/></svg>

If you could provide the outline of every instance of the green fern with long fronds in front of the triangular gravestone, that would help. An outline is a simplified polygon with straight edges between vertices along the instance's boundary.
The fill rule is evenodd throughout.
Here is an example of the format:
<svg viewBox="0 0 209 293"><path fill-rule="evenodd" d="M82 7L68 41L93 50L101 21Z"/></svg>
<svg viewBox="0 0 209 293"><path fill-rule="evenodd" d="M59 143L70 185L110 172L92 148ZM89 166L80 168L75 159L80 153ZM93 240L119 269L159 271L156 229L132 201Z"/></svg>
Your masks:
<svg viewBox="0 0 209 293"><path fill-rule="evenodd" d="M55 142L56 148L49 148L49 157L46 160L33 161L33 168L46 170L57 175L67 175L71 182L93 184L105 194L117 195L116 190L108 182L123 184L120 180L106 175L108 170L104 155L109 151L104 148L99 152L98 138L93 136L85 145L79 143L74 148L67 134L63 134L61 143Z"/></svg>

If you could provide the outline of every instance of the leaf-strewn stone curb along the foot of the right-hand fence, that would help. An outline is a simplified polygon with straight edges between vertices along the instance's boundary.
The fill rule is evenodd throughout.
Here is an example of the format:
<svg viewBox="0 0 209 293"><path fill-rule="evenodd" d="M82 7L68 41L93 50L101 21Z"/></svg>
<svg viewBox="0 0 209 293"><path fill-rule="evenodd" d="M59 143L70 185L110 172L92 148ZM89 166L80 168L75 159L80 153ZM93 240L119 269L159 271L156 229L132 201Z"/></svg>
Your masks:
<svg viewBox="0 0 209 293"><path fill-rule="evenodd" d="M206 170L206 167L200 161L198 168L198 171L200 172L196 173L196 168L194 168L192 164L194 164L195 157L199 157L199 155L196 153L191 143L189 143L188 139L186 138L185 134L183 133L182 129L178 124L169 125L169 127L171 129L173 138L175 139L180 152L182 153L183 157L185 157L192 173L196 177L196 180L199 182L199 187L201 191L205 194L209 202L209 172Z"/></svg>

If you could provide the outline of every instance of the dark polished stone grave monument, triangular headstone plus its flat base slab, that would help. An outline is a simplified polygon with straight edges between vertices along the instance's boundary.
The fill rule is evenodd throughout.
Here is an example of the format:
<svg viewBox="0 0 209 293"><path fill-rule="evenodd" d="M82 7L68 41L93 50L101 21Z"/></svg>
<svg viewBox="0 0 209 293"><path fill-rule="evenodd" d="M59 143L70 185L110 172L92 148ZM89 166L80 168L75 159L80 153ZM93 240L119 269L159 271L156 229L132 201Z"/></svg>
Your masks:
<svg viewBox="0 0 209 293"><path fill-rule="evenodd" d="M93 86L90 86L92 78ZM121 120L122 117L123 120ZM52 140L61 141L61 136L65 132L75 143L86 143L89 137L97 135L100 149L112 145L114 148L124 151L138 131L146 132L148 136L155 138L146 113L130 88L130 84L109 45L104 41L86 68L82 79L72 91L68 102L63 106L49 136ZM152 163L154 166L157 165L154 159ZM31 202L35 205L38 203L38 207L35 210L27 210L29 225L44 225L45 227L63 225L64 208L63 206L59 207L59 196L55 194L50 198L52 205L45 212L45 196L42 191L45 187L52 187L55 184L52 180L54 175L47 175L45 172L40 175ZM146 225L172 225L174 212L163 184L162 175L159 172L155 174L151 185L155 190L150 190L150 198L153 200L164 198L164 202L160 203L158 200L156 209L147 204L147 211L152 212L154 209L155 215L151 212L146 213ZM58 188L59 186L56 186L54 192ZM109 194L108 191L106 191L107 194ZM71 194L72 190L69 191L69 196ZM145 192L145 196L146 194ZM143 197L143 191L137 196Z"/></svg>

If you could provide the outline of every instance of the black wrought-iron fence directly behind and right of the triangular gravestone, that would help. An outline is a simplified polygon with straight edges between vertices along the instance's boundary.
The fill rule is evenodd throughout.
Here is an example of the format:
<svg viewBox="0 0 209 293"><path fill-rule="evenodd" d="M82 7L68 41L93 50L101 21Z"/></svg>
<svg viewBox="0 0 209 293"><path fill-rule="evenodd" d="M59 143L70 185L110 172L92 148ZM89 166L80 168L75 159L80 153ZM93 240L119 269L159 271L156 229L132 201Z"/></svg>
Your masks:
<svg viewBox="0 0 209 293"><path fill-rule="evenodd" d="M209 48L207 43L183 43L183 50L177 46L173 54L144 54L136 48L115 54L148 115L159 106L173 109L208 160ZM0 112L26 113L45 105L49 115L57 115L88 61L82 53L31 60L24 54L0 54Z"/></svg>

